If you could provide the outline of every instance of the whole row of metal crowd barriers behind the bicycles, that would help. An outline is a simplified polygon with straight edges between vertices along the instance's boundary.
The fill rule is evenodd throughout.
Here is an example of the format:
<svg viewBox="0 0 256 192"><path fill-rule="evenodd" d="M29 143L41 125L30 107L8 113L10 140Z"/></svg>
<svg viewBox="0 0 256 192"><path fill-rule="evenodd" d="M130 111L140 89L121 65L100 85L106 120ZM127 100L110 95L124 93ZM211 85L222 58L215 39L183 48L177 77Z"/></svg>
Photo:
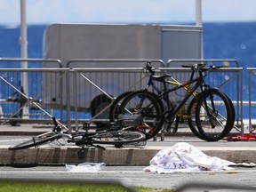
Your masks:
<svg viewBox="0 0 256 192"><path fill-rule="evenodd" d="M190 73L184 68L177 67L181 63L207 62L216 63L216 65L220 63L225 67L228 67L230 63L235 63L236 68L221 68L220 71L208 76L206 80L212 86L219 87L231 98L236 106L236 125L241 126L235 131L244 133L243 92L241 92L243 68L238 68L236 60L169 60L166 64L162 60L69 60L67 68L19 68L21 61L53 62L62 66L60 60L0 59L0 62L18 63L15 68L12 66L0 68L0 80L2 80L0 81L0 105L3 109L1 112L0 108L0 122L2 124L7 121L15 124L17 120L27 123L29 121L49 122L51 120L49 116L45 116L44 111L36 109L35 106L28 108L29 114L24 114L22 111L21 116L20 108L23 108L23 105L29 106L34 101L47 113L58 116L60 121L68 124L69 129L72 129L74 124L75 129L79 129L79 124L84 121L104 123L108 121L106 114L108 114L111 101L122 92L145 87L147 78L143 75L141 67L147 61L151 61L152 65L159 69L159 73L167 70L180 82L188 80ZM122 67L115 67L118 65ZM248 68L248 71L255 75L255 68ZM22 74L28 75L28 93L25 92L28 95L27 100L24 100L22 95L18 94L19 92L17 93L17 90L22 91L20 86ZM91 116L90 110L93 108L92 100L95 99L93 98L95 95L104 96L104 100L108 102L100 106L100 110ZM249 108L252 104L253 101L249 100ZM103 116L104 113L105 116ZM250 126L252 126L251 115L250 112Z"/></svg>

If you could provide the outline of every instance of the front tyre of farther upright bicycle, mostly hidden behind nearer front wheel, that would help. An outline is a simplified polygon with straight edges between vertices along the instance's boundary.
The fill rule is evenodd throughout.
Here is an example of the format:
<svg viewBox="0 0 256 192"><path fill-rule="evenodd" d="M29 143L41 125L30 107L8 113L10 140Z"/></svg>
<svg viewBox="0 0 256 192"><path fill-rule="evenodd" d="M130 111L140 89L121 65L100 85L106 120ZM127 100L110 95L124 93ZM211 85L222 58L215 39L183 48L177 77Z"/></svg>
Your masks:
<svg viewBox="0 0 256 192"><path fill-rule="evenodd" d="M229 105L230 105L230 108L231 108L231 111L232 111L231 121L235 122L236 110L235 110L235 107L233 105L233 102L232 102L232 100L230 100L228 98L227 94L225 94L224 92L222 92L222 93L228 99L228 102L229 102ZM200 93L199 93L199 95L197 95L197 97L193 98L193 100L191 100L189 105L188 105L188 111L187 111L187 114L189 116L188 117L188 126L189 126L191 132L193 132L196 137L198 137L201 140L204 140L204 137L201 135L201 133L199 132L199 130L197 129L197 126L196 126L196 105L197 105L198 97L200 97Z"/></svg>

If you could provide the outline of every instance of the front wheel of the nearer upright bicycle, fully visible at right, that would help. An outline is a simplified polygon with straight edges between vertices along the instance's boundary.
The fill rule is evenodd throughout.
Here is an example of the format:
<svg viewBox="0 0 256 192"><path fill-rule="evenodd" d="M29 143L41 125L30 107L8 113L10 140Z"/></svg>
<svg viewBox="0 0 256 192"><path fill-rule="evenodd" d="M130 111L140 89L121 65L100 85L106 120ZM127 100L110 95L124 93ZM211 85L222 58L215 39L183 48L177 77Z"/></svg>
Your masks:
<svg viewBox="0 0 256 192"><path fill-rule="evenodd" d="M196 126L202 139L221 140L234 125L233 109L230 100L217 89L200 94L196 106Z"/></svg>

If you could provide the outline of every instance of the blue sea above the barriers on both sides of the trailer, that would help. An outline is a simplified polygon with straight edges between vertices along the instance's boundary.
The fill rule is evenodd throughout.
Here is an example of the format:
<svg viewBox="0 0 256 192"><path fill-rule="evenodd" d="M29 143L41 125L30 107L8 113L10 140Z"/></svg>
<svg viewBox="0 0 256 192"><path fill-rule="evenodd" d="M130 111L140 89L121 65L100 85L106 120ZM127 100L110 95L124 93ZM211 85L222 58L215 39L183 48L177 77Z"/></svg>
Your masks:
<svg viewBox="0 0 256 192"><path fill-rule="evenodd" d="M43 58L46 27L28 25L28 58ZM203 27L204 59L237 60L239 67L244 68L243 92L244 100L248 100L248 73L245 68L256 67L256 22L204 23ZM0 58L20 58L19 39L20 26L0 26ZM256 86L252 88L252 92L255 92Z"/></svg>

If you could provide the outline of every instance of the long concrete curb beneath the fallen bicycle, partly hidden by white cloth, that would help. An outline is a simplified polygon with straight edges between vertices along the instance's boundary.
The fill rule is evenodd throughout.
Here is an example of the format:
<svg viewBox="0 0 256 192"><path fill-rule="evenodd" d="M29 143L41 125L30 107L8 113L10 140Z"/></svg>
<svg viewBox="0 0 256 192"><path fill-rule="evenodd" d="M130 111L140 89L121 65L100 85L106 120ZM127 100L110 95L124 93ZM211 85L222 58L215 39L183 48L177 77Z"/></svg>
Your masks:
<svg viewBox="0 0 256 192"><path fill-rule="evenodd" d="M10 151L7 146L0 148L0 164L4 165L28 165L28 164L81 164L84 162L116 164L149 164L149 161L159 150L166 147L143 148L113 148L106 150L100 148L84 149L84 158L79 159L78 147L44 147L27 148ZM255 162L256 149L254 148L199 148L207 156L217 156L234 163Z"/></svg>

